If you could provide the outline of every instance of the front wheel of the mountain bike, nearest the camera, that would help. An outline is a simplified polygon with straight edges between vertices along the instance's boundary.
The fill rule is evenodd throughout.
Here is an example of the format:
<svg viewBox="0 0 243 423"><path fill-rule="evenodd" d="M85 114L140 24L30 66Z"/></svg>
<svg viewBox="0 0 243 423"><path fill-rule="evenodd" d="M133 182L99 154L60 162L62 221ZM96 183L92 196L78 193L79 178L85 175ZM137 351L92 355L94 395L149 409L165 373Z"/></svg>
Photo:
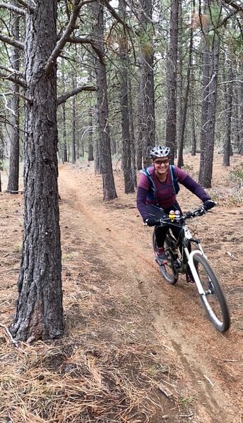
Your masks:
<svg viewBox="0 0 243 423"><path fill-rule="evenodd" d="M206 257L203 257L201 254L195 254L193 260L198 278L203 286L204 293L200 297L208 318L213 326L215 326L215 329L220 332L226 332L230 329L230 310L223 288ZM203 271L205 272L204 275ZM206 289L207 285L208 289ZM211 299L209 300L209 298Z"/></svg>

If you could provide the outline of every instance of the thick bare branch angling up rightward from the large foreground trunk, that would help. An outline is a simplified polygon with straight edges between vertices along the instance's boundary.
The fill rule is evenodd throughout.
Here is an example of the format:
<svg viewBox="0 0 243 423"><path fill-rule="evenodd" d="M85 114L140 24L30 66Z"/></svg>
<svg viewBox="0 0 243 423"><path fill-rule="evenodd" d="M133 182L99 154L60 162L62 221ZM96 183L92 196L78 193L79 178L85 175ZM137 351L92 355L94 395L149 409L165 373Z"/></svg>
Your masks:
<svg viewBox="0 0 243 423"><path fill-rule="evenodd" d="M86 0L86 1L76 0L73 7L73 12L69 20L69 24L67 25L66 30L64 31L63 35L57 42L57 45L52 51L51 56L49 56L49 59L47 60L47 64L45 66L46 75L49 75L49 73L52 72L52 69L57 62L57 57L59 56L60 51L64 48L64 45L68 41L69 36L73 32L73 30L75 30L76 20L78 18L78 13L81 10L81 7L83 7L84 4L92 3L93 1L95 0Z"/></svg>

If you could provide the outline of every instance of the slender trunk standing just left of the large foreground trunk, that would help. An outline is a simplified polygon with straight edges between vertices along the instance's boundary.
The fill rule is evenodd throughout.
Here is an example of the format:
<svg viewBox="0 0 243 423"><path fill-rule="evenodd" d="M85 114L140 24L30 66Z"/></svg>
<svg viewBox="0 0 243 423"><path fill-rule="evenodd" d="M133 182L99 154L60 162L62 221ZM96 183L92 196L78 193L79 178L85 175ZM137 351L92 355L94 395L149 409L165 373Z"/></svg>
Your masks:
<svg viewBox="0 0 243 423"><path fill-rule="evenodd" d="M13 1L13 6L18 6L17 1ZM11 20L13 28L13 38L19 40L19 16L13 13ZM11 66L15 71L20 68L20 54L17 47L13 47L11 56ZM9 159L9 174L7 190L12 193L18 192L18 178L19 178L19 86L12 84L12 100L11 109L13 115L11 118L11 140L10 140L10 159Z"/></svg>

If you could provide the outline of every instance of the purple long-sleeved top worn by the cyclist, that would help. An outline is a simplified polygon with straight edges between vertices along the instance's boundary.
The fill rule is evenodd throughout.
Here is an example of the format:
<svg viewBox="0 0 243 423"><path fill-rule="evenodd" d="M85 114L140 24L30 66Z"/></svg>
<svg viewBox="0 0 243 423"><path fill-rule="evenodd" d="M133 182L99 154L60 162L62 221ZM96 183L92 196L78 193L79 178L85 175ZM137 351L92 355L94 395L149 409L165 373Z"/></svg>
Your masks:
<svg viewBox="0 0 243 423"><path fill-rule="evenodd" d="M192 179L188 173L178 168L177 166L174 166L174 171L178 182L182 183L184 187L200 198L202 202L211 200L211 197L203 190L201 185L196 183L196 180ZM146 204L157 204L162 207L162 209L167 209L168 207L171 207L172 204L174 204L176 201L176 194L174 192L171 172L168 171L167 180L165 182L160 182L160 180L158 180L157 176L155 175L155 168L153 166L148 168L148 172L150 173L150 176L153 178L153 182L155 183L157 202L148 199L150 181L148 180L148 176L142 173L138 183L137 207L143 220L150 217L146 210Z"/></svg>

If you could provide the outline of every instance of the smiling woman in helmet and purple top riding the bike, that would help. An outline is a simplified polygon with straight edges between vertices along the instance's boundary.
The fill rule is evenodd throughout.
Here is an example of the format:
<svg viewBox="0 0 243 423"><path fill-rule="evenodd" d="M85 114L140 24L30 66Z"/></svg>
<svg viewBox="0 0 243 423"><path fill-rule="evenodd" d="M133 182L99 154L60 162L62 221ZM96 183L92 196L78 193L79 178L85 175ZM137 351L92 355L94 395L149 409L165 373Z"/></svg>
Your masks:
<svg viewBox="0 0 243 423"><path fill-rule="evenodd" d="M215 206L215 202L203 190L201 185L196 183L191 176L177 166L170 165L170 148L158 145L150 149L150 159L153 166L142 171L138 184L137 207L144 223L148 226L155 226L155 221L165 217L170 211L182 210L177 202L177 181L182 183L189 191L195 194L203 202L206 210ZM167 264L168 259L164 250L164 242L169 225L155 228L156 242L158 245L158 262ZM171 226L176 238L179 237L179 226Z"/></svg>

